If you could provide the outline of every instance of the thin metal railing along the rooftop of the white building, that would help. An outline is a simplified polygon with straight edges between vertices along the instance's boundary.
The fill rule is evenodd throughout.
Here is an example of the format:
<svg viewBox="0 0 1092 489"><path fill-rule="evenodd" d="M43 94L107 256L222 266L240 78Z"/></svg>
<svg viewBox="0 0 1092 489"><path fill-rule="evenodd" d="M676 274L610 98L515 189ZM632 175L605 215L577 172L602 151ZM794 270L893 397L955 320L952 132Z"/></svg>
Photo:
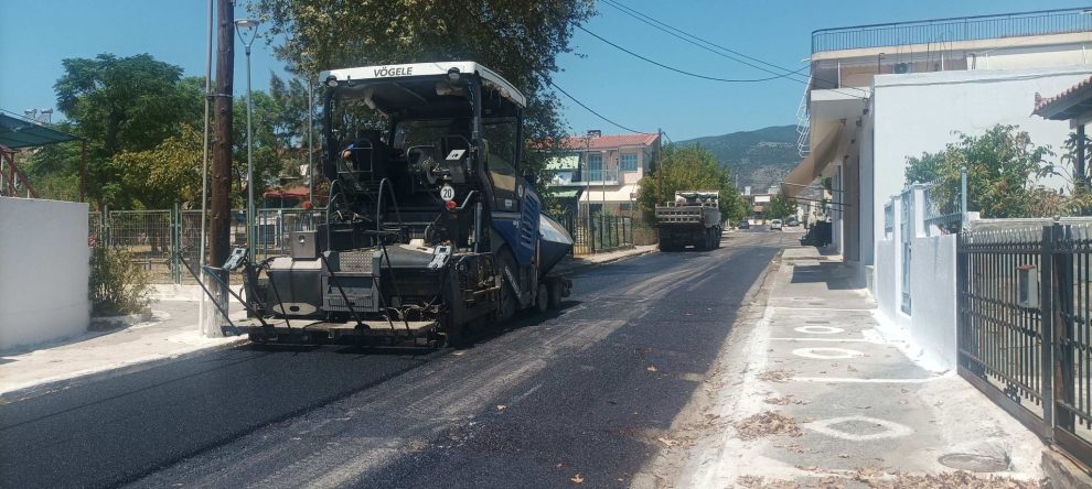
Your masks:
<svg viewBox="0 0 1092 489"><path fill-rule="evenodd" d="M812 53L1090 31L1090 9L1040 10L821 29L812 32Z"/></svg>

